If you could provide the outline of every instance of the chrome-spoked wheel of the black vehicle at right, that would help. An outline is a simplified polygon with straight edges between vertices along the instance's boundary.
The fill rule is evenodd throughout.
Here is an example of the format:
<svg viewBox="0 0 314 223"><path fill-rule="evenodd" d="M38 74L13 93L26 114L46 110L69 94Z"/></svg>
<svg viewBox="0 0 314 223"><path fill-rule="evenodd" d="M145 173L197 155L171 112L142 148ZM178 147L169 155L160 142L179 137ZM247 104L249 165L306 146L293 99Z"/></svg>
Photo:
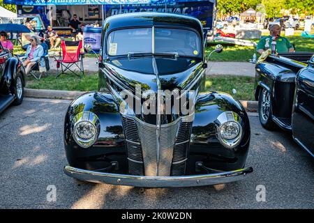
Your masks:
<svg viewBox="0 0 314 223"><path fill-rule="evenodd" d="M272 120L271 94L267 89L261 89L258 96L258 116L262 127L267 130L275 130L276 124Z"/></svg>

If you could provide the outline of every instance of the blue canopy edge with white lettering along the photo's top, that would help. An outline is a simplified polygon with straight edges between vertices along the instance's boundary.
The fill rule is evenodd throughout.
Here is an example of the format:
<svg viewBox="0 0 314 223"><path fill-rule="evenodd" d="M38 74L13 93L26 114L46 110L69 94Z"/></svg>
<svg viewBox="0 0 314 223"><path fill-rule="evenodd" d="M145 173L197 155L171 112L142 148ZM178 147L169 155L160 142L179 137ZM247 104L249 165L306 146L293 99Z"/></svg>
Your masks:
<svg viewBox="0 0 314 223"><path fill-rule="evenodd" d="M47 6L47 5L116 5L116 4L143 4L143 3L175 3L187 1L215 0L3 0L3 3L20 6Z"/></svg>

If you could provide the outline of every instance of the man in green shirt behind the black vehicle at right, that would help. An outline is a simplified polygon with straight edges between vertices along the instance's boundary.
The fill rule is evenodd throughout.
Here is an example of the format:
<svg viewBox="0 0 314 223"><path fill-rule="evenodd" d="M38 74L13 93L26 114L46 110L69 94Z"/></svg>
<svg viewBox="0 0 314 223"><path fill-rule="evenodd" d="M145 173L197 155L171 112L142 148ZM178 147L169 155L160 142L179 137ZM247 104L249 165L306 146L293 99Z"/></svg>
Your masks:
<svg viewBox="0 0 314 223"><path fill-rule="evenodd" d="M259 54L262 54L267 49L271 49L271 42L273 37L276 37L276 51L278 53L294 52L294 47L290 41L281 36L281 26L274 24L269 26L270 35L262 38L257 43L256 50Z"/></svg>

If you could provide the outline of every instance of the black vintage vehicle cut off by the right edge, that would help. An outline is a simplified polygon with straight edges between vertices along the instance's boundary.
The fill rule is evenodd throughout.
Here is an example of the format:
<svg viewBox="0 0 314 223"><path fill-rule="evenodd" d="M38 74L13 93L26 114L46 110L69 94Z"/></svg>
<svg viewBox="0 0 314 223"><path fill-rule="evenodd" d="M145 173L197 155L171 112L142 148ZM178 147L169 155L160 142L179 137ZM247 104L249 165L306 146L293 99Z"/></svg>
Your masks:
<svg viewBox="0 0 314 223"><path fill-rule="evenodd" d="M268 56L255 69L255 99L262 126L292 132L293 139L314 157L313 53Z"/></svg>

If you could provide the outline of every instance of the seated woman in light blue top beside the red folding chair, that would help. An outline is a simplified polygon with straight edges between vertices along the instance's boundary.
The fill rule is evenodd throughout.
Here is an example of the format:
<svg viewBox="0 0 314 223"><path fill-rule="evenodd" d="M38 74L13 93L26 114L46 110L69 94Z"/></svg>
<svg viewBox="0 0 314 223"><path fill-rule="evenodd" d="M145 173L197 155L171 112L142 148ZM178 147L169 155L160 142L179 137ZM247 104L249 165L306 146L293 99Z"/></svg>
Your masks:
<svg viewBox="0 0 314 223"><path fill-rule="evenodd" d="M40 61L41 56L44 54L38 36L31 36L29 41L31 42L31 45L27 47L27 52L24 56L24 61L22 62L25 67L26 75L29 75L31 68Z"/></svg>

